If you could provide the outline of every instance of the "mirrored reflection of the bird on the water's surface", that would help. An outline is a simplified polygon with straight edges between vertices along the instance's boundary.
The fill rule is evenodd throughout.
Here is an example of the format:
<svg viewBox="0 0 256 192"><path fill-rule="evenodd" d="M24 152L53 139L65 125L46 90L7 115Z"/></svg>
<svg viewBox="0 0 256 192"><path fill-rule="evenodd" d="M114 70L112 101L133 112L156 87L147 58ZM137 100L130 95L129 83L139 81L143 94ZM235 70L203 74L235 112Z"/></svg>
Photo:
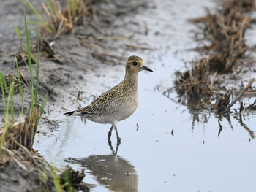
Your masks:
<svg viewBox="0 0 256 192"><path fill-rule="evenodd" d="M113 150L111 141L109 146L112 155L91 155L86 158L68 158L67 162L79 164L82 168L89 169L89 174L112 191L138 191L138 175L135 167L127 160L117 155L120 142L117 142L116 151Z"/></svg>

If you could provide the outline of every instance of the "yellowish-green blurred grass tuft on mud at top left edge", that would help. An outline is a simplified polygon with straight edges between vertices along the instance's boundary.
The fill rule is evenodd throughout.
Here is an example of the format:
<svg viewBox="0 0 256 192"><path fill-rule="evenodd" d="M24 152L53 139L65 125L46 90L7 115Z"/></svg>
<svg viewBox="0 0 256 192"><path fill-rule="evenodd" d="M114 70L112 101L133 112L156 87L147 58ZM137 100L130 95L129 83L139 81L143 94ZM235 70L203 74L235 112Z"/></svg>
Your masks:
<svg viewBox="0 0 256 192"><path fill-rule="evenodd" d="M42 9L46 16L42 15L29 0L22 0L23 4L37 16L39 24L42 26L43 37L54 34L54 38L60 34L72 32L77 25L83 24L83 18L89 14L89 7L92 1L67 0L67 9L62 9L59 1L46 0L42 3Z"/></svg>

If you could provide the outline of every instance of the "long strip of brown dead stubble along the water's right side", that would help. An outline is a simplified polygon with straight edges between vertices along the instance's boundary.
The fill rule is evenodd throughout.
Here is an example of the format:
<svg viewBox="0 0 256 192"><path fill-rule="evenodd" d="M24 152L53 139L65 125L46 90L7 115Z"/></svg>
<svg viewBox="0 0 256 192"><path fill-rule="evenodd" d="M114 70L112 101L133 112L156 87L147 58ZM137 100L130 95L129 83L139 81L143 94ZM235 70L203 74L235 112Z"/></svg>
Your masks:
<svg viewBox="0 0 256 192"><path fill-rule="evenodd" d="M253 19L245 15L245 12L255 8L255 2L251 0L227 0L222 2L222 8L216 13L207 10L207 15L202 18L190 20L195 23L200 32L195 33L195 39L203 42L203 47L195 50L205 53L207 56L198 63L192 62L192 69L186 72L177 72L176 92L187 100L198 99L194 109L205 110L230 110L230 107L251 88L254 79L249 80L236 99L232 102L230 96L233 88L225 94L219 93L219 74L229 74L246 64L247 47L244 34ZM164 92L167 95L167 90ZM206 101L211 100L206 103ZM188 101L189 103L189 101Z"/></svg>

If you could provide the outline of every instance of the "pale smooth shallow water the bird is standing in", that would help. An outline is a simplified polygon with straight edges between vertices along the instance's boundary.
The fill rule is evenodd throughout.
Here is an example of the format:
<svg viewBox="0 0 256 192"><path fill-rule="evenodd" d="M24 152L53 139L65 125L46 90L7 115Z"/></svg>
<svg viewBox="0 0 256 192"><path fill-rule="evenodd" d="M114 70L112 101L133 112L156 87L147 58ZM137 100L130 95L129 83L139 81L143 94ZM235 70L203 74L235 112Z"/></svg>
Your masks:
<svg viewBox="0 0 256 192"><path fill-rule="evenodd" d="M148 66L154 73L139 74L138 110L118 123L120 146L115 132L108 145L110 125L63 117L34 149L59 166L86 169L84 181L97 185L91 191L255 191L256 116L191 112L156 91L179 66Z"/></svg>

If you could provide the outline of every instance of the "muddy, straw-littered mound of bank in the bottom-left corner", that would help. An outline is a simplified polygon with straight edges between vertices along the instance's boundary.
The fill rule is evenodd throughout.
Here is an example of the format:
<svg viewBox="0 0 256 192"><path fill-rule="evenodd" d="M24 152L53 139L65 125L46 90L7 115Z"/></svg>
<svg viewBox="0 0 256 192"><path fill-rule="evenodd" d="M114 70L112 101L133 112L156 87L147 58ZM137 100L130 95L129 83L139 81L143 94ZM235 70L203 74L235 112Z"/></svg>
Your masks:
<svg viewBox="0 0 256 192"><path fill-rule="evenodd" d="M15 153L15 155L17 155L17 153ZM19 152L18 155L23 154ZM13 161L12 158L7 158L9 159L7 159L4 164L2 164L3 162L1 159L0 191L40 191L42 189L45 191L55 191L52 175L45 174L42 171L42 167L48 167L50 171L50 166L45 164L45 161L41 161L40 166L35 166L34 164L31 164L31 162L28 164L28 159L23 159L23 161L18 159L20 164L25 166L24 168L19 166L17 162ZM40 157L37 153L34 153L34 158L42 157Z"/></svg>

